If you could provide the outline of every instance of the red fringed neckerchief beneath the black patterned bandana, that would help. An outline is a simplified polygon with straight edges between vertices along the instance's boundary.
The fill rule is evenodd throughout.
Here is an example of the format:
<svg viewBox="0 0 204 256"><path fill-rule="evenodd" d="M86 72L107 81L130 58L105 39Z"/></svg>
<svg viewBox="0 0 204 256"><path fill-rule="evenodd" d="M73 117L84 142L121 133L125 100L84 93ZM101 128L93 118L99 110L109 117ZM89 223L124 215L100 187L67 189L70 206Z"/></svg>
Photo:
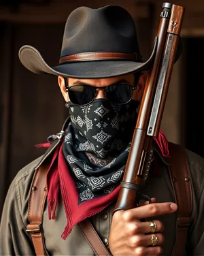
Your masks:
<svg viewBox="0 0 204 256"><path fill-rule="evenodd" d="M163 131L160 131L158 138L154 138L154 140L158 144L163 156L170 157L167 138ZM50 144L38 144L37 146L47 147L50 146ZM101 212L101 210L114 202L117 199L118 192L120 190L120 186L118 186L114 191L112 191L112 193L95 199L89 199L78 206L78 189L75 186L75 181L71 177L71 172L69 172L67 161L63 155L63 140L54 152L47 174L47 186L49 219L55 219L56 217L55 212L60 193L63 199L65 213L67 216L67 225L61 235L63 239L66 239L67 236L69 236L74 225L77 225L80 221Z"/></svg>

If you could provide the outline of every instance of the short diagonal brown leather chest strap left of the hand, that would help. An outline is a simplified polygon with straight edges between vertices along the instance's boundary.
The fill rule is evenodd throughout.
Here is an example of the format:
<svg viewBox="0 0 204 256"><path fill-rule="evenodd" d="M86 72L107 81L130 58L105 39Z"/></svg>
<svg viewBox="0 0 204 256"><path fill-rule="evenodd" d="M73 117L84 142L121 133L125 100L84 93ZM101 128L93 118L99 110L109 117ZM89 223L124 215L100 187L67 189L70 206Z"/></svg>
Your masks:
<svg viewBox="0 0 204 256"><path fill-rule="evenodd" d="M80 226L82 233L84 234L86 240L90 244L92 250L95 251L95 254L97 256L111 255L109 251L106 249L103 242L101 241L101 238L99 238L99 235L95 231L95 228L92 226L92 224L88 219L85 219L84 221L80 222L78 225Z"/></svg>

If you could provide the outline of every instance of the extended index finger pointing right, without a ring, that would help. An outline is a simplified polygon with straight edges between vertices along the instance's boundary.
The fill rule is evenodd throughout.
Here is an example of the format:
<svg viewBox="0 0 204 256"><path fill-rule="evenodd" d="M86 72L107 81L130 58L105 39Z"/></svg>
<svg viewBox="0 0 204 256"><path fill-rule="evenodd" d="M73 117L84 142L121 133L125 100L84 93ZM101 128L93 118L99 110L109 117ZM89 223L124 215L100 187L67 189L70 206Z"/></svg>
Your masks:
<svg viewBox="0 0 204 256"><path fill-rule="evenodd" d="M175 210L177 210L177 205L174 203L154 203L126 210L123 217L126 221L131 221L133 219L146 219L162 214L170 214L175 212Z"/></svg>

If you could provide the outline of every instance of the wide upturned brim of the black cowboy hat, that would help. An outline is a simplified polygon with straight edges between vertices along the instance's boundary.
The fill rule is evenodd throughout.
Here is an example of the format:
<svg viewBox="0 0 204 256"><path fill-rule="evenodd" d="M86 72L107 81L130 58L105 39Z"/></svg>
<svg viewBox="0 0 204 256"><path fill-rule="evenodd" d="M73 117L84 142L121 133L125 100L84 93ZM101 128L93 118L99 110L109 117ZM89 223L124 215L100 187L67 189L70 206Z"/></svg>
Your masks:
<svg viewBox="0 0 204 256"><path fill-rule="evenodd" d="M50 74L70 78L109 78L121 76L150 68L156 53L157 37L154 41L152 54L148 61L79 61L50 67L37 49L33 46L22 46L19 50L19 59L30 71L35 74Z"/></svg>

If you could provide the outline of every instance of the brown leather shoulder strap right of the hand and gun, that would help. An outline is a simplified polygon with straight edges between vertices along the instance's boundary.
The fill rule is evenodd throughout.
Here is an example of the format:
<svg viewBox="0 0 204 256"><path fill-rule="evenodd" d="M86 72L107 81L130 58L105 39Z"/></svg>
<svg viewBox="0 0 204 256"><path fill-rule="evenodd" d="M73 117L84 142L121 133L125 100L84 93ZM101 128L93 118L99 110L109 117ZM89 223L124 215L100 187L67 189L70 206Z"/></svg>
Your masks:
<svg viewBox="0 0 204 256"><path fill-rule="evenodd" d="M184 255L192 212L192 190L188 159L182 146L169 143L171 154L170 176L177 203L177 236L173 254Z"/></svg>

